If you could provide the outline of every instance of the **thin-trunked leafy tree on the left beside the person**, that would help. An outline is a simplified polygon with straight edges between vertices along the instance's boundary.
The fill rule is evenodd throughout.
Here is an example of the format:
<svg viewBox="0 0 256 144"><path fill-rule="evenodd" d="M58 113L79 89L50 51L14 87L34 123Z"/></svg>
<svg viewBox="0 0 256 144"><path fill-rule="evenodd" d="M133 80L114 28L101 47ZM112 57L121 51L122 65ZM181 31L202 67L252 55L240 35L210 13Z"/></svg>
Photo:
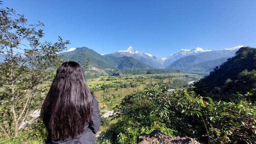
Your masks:
<svg viewBox="0 0 256 144"><path fill-rule="evenodd" d="M0 9L0 128L10 139L29 121L31 112L41 107L44 93L62 59L58 52L69 41L41 42L44 26L28 24L24 15L13 9Z"/></svg>

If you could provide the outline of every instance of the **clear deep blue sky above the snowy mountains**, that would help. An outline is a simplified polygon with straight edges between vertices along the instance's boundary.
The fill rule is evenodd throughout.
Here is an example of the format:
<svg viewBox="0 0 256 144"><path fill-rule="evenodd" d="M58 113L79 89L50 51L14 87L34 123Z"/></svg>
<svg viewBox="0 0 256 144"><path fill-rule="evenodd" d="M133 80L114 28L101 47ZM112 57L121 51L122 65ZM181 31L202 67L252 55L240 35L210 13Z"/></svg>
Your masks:
<svg viewBox="0 0 256 144"><path fill-rule="evenodd" d="M157 57L181 49L256 47L256 0L3 0L44 39L70 40L100 54L129 46Z"/></svg>

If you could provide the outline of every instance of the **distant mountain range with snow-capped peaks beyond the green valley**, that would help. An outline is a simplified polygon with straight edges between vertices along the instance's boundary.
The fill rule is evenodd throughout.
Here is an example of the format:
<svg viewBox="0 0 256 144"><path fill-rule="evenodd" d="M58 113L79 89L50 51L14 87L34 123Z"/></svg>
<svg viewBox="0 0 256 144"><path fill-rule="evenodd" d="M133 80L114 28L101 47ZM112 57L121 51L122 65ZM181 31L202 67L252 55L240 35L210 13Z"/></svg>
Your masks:
<svg viewBox="0 0 256 144"><path fill-rule="evenodd" d="M222 50L181 49L164 58L133 49L120 50L111 54L101 55L87 47L71 48L67 52L59 53L63 58L85 63L90 59L90 65L99 69L182 69L186 72L212 71L228 58L235 56L235 52L244 46L236 46Z"/></svg>

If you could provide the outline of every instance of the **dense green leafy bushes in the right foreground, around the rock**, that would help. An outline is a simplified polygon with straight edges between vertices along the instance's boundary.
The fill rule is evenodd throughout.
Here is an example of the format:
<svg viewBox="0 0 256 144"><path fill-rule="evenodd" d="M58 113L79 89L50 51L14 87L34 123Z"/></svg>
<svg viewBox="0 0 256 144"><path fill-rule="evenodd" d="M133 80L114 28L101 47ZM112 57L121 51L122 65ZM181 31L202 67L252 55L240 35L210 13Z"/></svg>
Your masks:
<svg viewBox="0 0 256 144"><path fill-rule="evenodd" d="M105 137L135 143L141 133L160 129L167 135L188 136L204 143L254 143L256 104L239 104L197 95L194 87L168 92L165 85L127 95L114 109L116 124Z"/></svg>

